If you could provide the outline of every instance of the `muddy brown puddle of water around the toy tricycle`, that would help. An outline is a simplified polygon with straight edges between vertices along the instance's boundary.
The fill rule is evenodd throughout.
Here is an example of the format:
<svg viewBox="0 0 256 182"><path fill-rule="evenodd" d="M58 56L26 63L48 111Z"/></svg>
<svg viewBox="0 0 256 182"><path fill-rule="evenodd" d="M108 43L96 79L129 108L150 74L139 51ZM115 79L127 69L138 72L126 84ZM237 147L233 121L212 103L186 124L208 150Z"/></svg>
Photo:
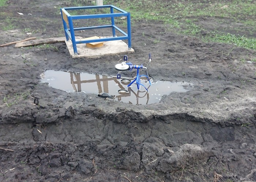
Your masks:
<svg viewBox="0 0 256 182"><path fill-rule="evenodd" d="M131 87L127 87L129 83L123 83L122 79L109 75L47 70L41 75L41 78L41 82L49 83L50 87L67 92L85 92L97 95L106 92L116 95L115 100L119 102L143 105L158 103L163 95L169 95L171 92L186 92L188 90L183 86L191 84L189 82L155 82L151 80L150 86L147 80L141 80L148 88L147 92L144 87L137 90L137 85L134 83ZM125 89L128 93L118 93L117 91L120 89Z"/></svg>

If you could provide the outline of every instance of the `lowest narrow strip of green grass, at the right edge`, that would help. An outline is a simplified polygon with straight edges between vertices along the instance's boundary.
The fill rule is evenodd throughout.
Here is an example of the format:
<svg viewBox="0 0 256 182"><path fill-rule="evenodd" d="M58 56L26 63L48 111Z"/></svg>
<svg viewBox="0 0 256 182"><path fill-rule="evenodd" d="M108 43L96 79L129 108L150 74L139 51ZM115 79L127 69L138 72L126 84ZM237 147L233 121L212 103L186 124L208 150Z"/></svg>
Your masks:
<svg viewBox="0 0 256 182"><path fill-rule="evenodd" d="M240 35L233 35L231 33L219 34L214 32L214 35L204 36L203 40L221 42L226 44L235 44L238 47L244 47L244 48L256 50L255 38L249 38L249 37L240 36Z"/></svg>

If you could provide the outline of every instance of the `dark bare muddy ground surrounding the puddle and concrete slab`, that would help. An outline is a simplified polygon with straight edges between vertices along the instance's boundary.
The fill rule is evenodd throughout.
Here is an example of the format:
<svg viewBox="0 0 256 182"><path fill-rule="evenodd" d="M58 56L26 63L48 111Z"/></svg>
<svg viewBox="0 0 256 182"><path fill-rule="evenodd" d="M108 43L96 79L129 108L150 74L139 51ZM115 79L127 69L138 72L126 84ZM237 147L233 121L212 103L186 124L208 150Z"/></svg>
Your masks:
<svg viewBox="0 0 256 182"><path fill-rule="evenodd" d="M28 38L27 27L38 38L64 36L54 7L67 4L42 2L9 0L0 8L17 17L14 30L0 32L1 44ZM132 24L132 48L133 62L146 64L151 52L154 80L193 86L149 105L67 93L41 83L40 74L116 75L123 55L74 59L65 43L0 47L0 181L256 181L256 63L240 61L256 51L146 21Z"/></svg>

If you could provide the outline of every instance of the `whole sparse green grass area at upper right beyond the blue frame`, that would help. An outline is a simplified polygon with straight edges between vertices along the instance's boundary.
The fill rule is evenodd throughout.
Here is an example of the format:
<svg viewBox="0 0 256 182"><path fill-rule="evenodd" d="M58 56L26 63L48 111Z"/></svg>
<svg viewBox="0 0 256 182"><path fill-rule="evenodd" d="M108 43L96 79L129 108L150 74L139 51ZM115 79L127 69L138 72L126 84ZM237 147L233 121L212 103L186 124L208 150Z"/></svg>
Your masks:
<svg viewBox="0 0 256 182"><path fill-rule="evenodd" d="M150 0L105 0L105 4L113 4L131 13L132 22L134 21L158 21L166 25L166 31L177 31L186 35L200 37L201 28L196 21L208 17L219 17L231 22L243 23L251 26L248 31L251 35L256 30L256 4L253 0L234 0L234 1L206 1L200 0L197 3L191 1L163 1L159 0L156 4ZM240 31L238 28L237 31ZM232 38L229 34L211 37L208 41L222 41L223 38ZM208 37L207 37L208 38ZM233 37L234 38L234 37ZM241 40L242 39L242 40ZM236 41L238 40L238 41ZM236 36L231 43L245 48L255 49L255 40L244 36Z"/></svg>

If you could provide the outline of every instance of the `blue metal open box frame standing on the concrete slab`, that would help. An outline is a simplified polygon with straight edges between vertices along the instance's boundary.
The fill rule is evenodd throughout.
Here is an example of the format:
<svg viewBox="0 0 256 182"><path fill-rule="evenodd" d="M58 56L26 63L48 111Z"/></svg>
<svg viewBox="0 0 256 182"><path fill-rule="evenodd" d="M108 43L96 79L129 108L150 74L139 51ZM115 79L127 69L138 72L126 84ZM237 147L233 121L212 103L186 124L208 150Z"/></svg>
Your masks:
<svg viewBox="0 0 256 182"><path fill-rule="evenodd" d="M70 10L80 10L80 9L99 9L99 8L110 8L109 14L97 14L97 15L76 15L71 16L68 11ZM119 11L120 13L114 13L114 9ZM92 42L101 42L101 41L111 41L111 40L128 40L128 49L131 50L132 43L131 43L131 15L129 12L126 12L120 8L117 8L113 5L103 5L103 6L85 6L85 7L69 7L69 8L60 8L61 18L63 21L63 27L65 31L65 36L67 41L71 39L74 54L78 55L76 44L83 44L83 43L92 43ZM126 16L127 17L127 33L118 28L114 24L114 17ZM106 18L111 17L111 25L101 25L101 26L93 26L93 27L80 27L74 28L72 20L78 19L92 19L92 18ZM69 28L68 28L69 26ZM96 28L109 28L112 27L112 35L113 37L101 38L101 39L90 39L90 40L75 40L75 31L81 31L86 29L96 29ZM116 30L121 32L124 36L116 36Z"/></svg>

